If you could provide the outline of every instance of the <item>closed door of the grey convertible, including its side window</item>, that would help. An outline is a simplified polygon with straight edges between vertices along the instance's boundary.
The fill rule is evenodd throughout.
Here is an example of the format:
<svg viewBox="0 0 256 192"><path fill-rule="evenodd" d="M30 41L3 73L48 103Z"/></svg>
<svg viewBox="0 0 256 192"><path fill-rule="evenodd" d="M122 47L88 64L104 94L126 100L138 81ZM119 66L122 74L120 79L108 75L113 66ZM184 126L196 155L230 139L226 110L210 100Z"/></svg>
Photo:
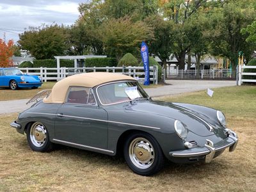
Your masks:
<svg viewBox="0 0 256 192"><path fill-rule="evenodd" d="M54 139L80 147L107 148L108 114L97 106L93 90L72 86L57 111Z"/></svg>

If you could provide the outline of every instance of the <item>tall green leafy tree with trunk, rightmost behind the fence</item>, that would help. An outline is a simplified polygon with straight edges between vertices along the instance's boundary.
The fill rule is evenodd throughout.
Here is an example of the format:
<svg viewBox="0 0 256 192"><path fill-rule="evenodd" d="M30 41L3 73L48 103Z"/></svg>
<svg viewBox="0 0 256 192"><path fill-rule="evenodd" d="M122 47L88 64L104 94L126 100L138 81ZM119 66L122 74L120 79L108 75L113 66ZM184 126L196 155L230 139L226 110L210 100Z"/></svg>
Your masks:
<svg viewBox="0 0 256 192"><path fill-rule="evenodd" d="M211 54L227 57L231 61L233 77L236 76L238 52L243 51L248 60L255 49L246 42L248 35L241 33L241 29L255 20L255 10L245 4L246 2L240 4L237 1L224 1L221 7L214 8L205 33L211 42Z"/></svg>

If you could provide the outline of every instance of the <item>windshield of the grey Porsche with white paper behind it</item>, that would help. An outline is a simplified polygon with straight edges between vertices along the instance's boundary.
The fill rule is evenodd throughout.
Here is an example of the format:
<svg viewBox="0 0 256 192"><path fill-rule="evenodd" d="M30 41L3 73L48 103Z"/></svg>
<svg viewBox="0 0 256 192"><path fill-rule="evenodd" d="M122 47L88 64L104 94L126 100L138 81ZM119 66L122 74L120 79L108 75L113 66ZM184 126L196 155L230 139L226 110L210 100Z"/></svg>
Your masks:
<svg viewBox="0 0 256 192"><path fill-rule="evenodd" d="M97 88L100 102L104 105L148 98L147 93L136 81L105 84Z"/></svg>

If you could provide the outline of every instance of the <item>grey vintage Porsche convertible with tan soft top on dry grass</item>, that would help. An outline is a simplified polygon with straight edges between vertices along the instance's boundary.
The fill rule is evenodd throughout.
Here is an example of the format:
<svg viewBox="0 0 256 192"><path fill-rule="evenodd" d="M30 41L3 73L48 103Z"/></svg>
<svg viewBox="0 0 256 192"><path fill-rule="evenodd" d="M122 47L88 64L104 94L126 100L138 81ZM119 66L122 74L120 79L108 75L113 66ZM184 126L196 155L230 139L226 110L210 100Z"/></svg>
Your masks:
<svg viewBox="0 0 256 192"><path fill-rule="evenodd" d="M121 152L133 172L152 175L164 159L209 163L237 145L221 111L152 100L129 76L77 74L45 92L11 123L38 152L51 150L53 143L111 156Z"/></svg>

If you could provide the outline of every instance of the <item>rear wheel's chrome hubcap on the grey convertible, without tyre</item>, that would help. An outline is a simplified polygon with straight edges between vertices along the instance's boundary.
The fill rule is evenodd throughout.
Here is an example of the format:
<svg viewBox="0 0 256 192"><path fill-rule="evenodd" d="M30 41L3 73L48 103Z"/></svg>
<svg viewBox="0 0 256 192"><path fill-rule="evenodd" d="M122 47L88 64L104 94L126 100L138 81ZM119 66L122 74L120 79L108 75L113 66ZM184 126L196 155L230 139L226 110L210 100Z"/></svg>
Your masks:
<svg viewBox="0 0 256 192"><path fill-rule="evenodd" d="M30 129L30 140L36 147L42 147L46 141L47 134L43 124L36 122Z"/></svg>

